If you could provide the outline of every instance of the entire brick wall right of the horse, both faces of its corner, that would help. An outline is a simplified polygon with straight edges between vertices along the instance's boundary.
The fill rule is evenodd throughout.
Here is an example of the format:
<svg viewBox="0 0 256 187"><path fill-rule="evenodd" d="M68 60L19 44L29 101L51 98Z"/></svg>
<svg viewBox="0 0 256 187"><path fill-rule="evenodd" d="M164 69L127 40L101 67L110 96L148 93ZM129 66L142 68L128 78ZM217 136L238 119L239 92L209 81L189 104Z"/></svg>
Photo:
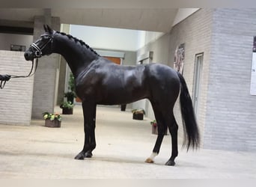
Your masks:
<svg viewBox="0 0 256 187"><path fill-rule="evenodd" d="M255 9L201 9L171 29L169 65L185 43L183 76L191 95L195 55L204 52L198 111L204 148L256 150L256 96L249 92L254 35ZM179 105L174 111L181 124Z"/></svg>

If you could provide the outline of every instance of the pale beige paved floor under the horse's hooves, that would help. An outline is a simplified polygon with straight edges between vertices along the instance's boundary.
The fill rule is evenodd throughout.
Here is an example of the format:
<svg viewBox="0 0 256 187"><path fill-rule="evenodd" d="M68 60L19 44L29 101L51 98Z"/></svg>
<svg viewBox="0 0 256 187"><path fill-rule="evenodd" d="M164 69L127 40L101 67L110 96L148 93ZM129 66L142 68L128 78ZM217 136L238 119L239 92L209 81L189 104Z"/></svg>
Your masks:
<svg viewBox="0 0 256 187"><path fill-rule="evenodd" d="M73 115L63 115L59 129L43 126L43 120L33 120L31 126L0 125L0 177L256 178L256 153L205 149L187 153L180 146L177 165L165 166L171 147L168 135L155 163L145 163L156 139L150 132L150 120L132 120L130 111L119 108L97 108L94 157L75 160L84 134L81 107L74 109Z"/></svg>

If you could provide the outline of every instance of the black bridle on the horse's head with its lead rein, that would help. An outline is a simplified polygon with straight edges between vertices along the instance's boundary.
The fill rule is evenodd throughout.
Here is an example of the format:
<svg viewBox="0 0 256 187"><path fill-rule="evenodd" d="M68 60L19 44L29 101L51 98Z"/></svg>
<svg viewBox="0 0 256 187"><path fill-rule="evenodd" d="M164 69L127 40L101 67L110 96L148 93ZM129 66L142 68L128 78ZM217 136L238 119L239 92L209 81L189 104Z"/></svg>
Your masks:
<svg viewBox="0 0 256 187"><path fill-rule="evenodd" d="M36 43L32 43L31 44L31 48L34 49L34 56L36 58L36 61L35 61L35 66L34 66L34 59L32 61L32 66L31 66L31 70L30 72L28 73L27 76L10 76L10 75L0 75L0 89L3 89L4 88L4 85L7 81L10 80L10 78L27 78L29 76L33 76L34 73L36 72L37 70L37 64L38 64L38 58L42 57L43 53L42 53L42 50L48 45L48 43L51 43L52 44L52 36L51 35L48 35L48 34L43 34L41 35L41 37L43 36L47 36L49 37L49 40L46 41L46 43L43 43L43 46L40 48L39 46L37 46ZM32 73L34 70L34 73Z"/></svg>

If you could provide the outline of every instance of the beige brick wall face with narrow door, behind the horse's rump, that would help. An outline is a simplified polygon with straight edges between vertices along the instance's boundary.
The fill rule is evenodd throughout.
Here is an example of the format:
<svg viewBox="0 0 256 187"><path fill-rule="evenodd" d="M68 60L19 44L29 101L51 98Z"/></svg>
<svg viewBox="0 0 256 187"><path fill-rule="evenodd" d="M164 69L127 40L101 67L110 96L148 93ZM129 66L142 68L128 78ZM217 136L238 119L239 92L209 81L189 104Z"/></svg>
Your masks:
<svg viewBox="0 0 256 187"><path fill-rule="evenodd" d="M177 46L185 43L185 63L183 76L189 88L190 96L193 95L195 55L204 52L204 62L201 74L200 98L198 100L198 126L201 132L201 142L204 142L205 114L207 111L207 89L210 64L210 43L212 29L213 10L201 9L193 13L182 22L175 25L170 32L170 46L168 65L173 67L174 52ZM183 136L183 126L180 116L180 102L174 107L174 115L179 124L179 136Z"/></svg>

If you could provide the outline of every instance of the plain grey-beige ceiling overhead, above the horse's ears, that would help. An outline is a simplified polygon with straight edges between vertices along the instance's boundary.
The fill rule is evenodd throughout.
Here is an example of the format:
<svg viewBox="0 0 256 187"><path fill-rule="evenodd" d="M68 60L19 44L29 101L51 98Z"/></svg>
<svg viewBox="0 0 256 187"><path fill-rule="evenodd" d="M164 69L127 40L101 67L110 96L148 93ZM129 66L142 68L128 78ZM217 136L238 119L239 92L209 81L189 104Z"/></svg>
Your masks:
<svg viewBox="0 0 256 187"><path fill-rule="evenodd" d="M50 10L50 11L49 11ZM144 31L171 30L178 8L0 8L0 25L33 24L45 13L60 17L61 23ZM19 25L20 26L20 25Z"/></svg>

